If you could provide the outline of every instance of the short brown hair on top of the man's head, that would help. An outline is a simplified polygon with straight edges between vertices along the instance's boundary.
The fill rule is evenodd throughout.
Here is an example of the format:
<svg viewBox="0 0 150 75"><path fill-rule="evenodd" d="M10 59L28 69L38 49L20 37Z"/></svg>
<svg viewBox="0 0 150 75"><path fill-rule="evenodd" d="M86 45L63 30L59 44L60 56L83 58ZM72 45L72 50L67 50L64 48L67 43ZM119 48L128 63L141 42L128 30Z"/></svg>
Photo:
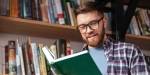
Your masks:
<svg viewBox="0 0 150 75"><path fill-rule="evenodd" d="M85 2L83 5L80 5L76 9L76 16L78 14L88 13L92 11L98 11L98 13L103 14L103 7L98 5L96 2L88 1Z"/></svg>

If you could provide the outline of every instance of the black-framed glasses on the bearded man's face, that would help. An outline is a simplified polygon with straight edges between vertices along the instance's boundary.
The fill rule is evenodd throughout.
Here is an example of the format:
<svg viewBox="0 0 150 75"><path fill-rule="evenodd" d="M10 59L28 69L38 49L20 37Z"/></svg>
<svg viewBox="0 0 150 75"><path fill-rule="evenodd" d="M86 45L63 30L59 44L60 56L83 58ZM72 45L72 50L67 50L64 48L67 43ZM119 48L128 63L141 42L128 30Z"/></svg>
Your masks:
<svg viewBox="0 0 150 75"><path fill-rule="evenodd" d="M77 28L80 30L81 33L85 33L87 31L87 27L89 27L90 29L97 29L99 22L103 20L104 17L101 17L98 20L93 20L91 22L89 22L88 24L82 24L82 25L78 25Z"/></svg>

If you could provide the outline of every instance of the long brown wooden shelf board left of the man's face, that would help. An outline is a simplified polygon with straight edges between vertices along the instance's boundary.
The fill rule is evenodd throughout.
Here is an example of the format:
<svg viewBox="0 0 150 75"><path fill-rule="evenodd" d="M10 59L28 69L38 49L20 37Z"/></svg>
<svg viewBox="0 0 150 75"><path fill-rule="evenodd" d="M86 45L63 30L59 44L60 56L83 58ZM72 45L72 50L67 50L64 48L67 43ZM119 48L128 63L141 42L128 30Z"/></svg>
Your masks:
<svg viewBox="0 0 150 75"><path fill-rule="evenodd" d="M75 27L67 25L51 25L41 21L0 16L0 32L21 34L45 38L63 38L81 41Z"/></svg>

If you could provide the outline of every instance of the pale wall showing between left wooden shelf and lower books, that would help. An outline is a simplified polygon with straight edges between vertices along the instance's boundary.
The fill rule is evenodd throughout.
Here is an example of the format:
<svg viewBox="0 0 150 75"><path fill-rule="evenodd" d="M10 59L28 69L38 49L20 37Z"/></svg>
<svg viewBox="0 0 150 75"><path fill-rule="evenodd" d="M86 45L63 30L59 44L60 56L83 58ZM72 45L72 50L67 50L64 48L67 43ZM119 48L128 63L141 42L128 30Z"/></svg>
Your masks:
<svg viewBox="0 0 150 75"><path fill-rule="evenodd" d="M0 34L0 47L4 47L8 44L9 40L17 40L19 41L19 44L22 44L23 42L27 41L27 38L29 36L25 35L15 35L15 34ZM40 37L30 37L31 42L35 43L42 43L44 45L52 45L56 39L50 39L50 38L40 38ZM76 41L70 41L70 45L77 52L78 50L82 49L83 43L82 42L76 42Z"/></svg>

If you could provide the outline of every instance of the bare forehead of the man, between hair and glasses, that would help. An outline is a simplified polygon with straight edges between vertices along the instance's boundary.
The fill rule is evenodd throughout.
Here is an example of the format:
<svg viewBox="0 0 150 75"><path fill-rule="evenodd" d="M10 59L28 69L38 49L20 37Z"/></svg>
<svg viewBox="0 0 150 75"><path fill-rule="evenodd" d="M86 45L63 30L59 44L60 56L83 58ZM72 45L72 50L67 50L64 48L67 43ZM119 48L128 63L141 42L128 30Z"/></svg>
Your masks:
<svg viewBox="0 0 150 75"><path fill-rule="evenodd" d="M87 24L92 20L96 20L101 18L102 14L98 13L97 11L92 11L88 13L82 13L77 15L77 24Z"/></svg>

